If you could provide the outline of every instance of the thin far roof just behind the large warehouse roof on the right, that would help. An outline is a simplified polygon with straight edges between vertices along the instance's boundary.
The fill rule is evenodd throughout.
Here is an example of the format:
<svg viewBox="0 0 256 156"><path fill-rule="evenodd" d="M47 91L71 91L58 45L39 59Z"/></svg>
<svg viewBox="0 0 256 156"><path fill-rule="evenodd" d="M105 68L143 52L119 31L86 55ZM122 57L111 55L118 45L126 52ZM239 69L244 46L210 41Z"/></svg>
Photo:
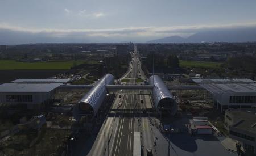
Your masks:
<svg viewBox="0 0 256 156"><path fill-rule="evenodd" d="M205 84L205 83L255 83L251 79L247 78L240 78L240 79L231 79L231 78L216 78L216 79L192 79L192 81L196 82L197 84Z"/></svg>

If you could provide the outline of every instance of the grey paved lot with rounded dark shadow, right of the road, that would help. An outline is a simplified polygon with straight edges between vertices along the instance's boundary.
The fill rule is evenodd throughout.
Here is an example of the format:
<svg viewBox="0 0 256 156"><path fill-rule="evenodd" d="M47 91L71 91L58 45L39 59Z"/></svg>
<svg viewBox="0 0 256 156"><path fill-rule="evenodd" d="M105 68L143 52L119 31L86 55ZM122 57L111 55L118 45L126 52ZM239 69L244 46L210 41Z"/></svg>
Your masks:
<svg viewBox="0 0 256 156"><path fill-rule="evenodd" d="M185 128L189 124L188 117L182 117L172 123L172 127L181 129L179 133L161 133L156 127L152 127L156 138L156 155L237 155L228 151L221 144L225 136L214 133L213 135L191 136Z"/></svg>

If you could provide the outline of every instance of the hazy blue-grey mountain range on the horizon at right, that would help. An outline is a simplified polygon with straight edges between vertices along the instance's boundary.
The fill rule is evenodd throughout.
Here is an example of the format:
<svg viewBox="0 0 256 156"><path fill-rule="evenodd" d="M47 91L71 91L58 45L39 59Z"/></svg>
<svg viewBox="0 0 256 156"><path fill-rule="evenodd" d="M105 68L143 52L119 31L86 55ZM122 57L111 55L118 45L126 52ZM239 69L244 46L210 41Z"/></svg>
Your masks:
<svg viewBox="0 0 256 156"><path fill-rule="evenodd" d="M256 28L202 31L187 38L180 36L164 37L147 43L201 43L201 42L250 42L256 41Z"/></svg>

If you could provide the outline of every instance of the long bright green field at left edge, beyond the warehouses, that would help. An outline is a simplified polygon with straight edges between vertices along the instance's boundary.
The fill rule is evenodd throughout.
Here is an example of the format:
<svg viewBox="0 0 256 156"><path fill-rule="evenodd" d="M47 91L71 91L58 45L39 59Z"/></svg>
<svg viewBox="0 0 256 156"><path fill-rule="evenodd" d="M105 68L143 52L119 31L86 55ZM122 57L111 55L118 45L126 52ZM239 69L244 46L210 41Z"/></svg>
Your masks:
<svg viewBox="0 0 256 156"><path fill-rule="evenodd" d="M12 69L70 69L74 65L85 63L84 60L49 61L49 62L18 62L15 60L0 60L0 70Z"/></svg>

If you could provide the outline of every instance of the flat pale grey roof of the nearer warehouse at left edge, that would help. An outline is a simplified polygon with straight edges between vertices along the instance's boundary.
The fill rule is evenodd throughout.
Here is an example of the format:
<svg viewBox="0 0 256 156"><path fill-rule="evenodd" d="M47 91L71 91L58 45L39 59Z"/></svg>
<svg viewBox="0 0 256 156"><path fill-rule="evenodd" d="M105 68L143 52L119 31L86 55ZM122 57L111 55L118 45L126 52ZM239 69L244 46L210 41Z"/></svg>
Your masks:
<svg viewBox="0 0 256 156"><path fill-rule="evenodd" d="M63 85L62 83L3 83L0 92L49 92Z"/></svg>

